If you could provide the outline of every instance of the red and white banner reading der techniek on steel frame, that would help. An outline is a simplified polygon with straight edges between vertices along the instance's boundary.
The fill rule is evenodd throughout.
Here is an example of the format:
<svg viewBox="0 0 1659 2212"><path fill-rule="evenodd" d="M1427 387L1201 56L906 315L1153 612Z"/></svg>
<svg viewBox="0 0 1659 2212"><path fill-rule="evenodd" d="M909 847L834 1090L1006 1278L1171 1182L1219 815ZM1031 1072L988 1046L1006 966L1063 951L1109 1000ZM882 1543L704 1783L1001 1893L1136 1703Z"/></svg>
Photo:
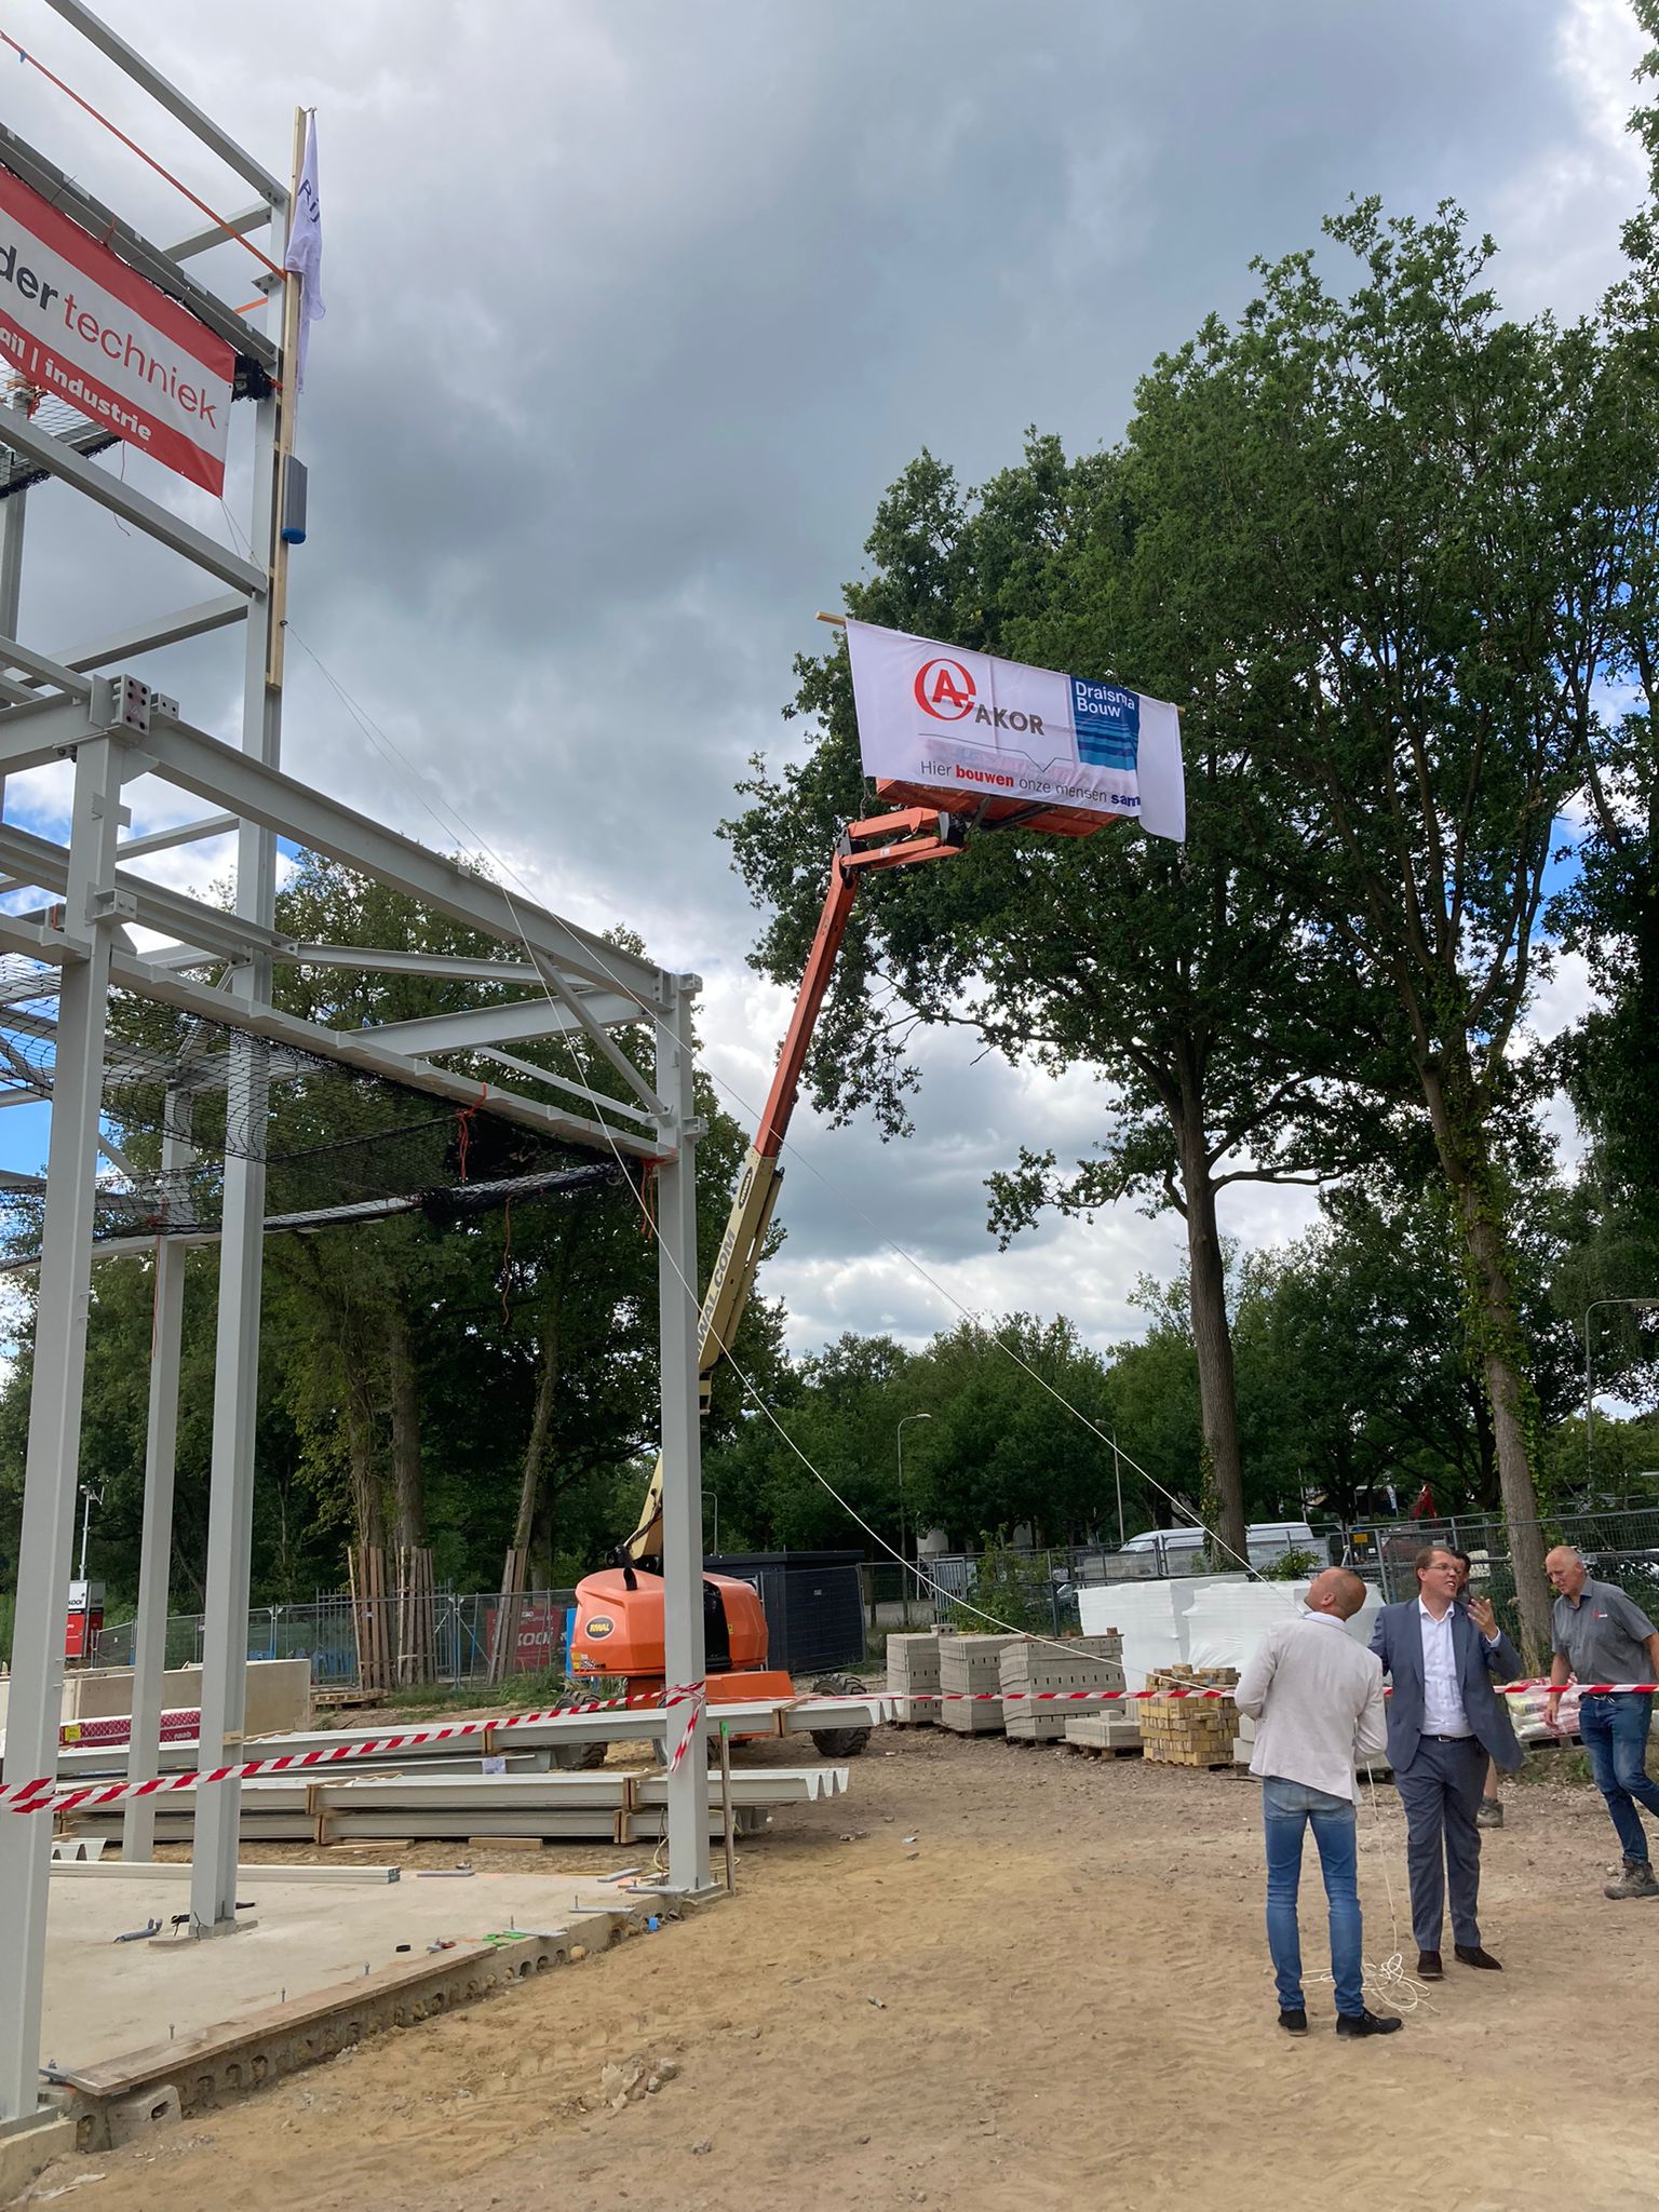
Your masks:
<svg viewBox="0 0 1659 2212"><path fill-rule="evenodd" d="M237 356L9 168L0 168L0 363L223 493Z"/></svg>

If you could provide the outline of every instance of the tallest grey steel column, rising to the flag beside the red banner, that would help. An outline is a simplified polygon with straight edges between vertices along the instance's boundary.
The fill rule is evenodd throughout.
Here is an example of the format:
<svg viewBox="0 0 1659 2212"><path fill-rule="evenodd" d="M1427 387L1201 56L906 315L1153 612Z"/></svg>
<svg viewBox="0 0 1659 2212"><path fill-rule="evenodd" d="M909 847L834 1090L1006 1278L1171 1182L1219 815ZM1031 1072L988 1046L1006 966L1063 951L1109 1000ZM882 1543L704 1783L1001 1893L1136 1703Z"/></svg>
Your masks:
<svg viewBox="0 0 1659 2212"><path fill-rule="evenodd" d="M276 520L276 398L259 403L254 425L254 557L270 560ZM243 664L243 752L274 768L281 752L281 690L265 681L274 608L270 595L248 611ZM270 927L276 911L276 838L243 821L237 834L237 914ZM270 1004L270 960L254 953L237 969L232 995ZM259 1413L259 1290L265 1256L265 1093L270 1046L239 1033L230 1046L226 1119L234 1115L241 1150L226 1150L223 1234L219 1239L219 1334L212 1369L212 1486L208 1495L208 1588L201 1646L204 1767L241 1759L248 1717L248 1577L254 1522L254 1420ZM257 1157L250 1157L257 1155ZM237 1924L237 1845L241 1783L197 1790L190 1874L190 1933L230 1933Z"/></svg>

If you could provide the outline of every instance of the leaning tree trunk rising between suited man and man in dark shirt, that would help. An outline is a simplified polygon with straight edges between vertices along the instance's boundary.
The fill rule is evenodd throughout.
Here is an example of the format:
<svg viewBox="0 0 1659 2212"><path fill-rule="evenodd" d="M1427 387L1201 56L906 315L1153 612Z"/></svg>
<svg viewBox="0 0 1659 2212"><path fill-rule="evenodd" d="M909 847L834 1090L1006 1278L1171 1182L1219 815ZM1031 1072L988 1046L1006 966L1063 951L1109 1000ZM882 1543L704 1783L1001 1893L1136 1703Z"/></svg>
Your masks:
<svg viewBox="0 0 1659 2212"><path fill-rule="evenodd" d="M1464 1243L1473 1303L1471 1332L1491 1407L1498 1491L1515 1562L1522 1657L1537 1674L1551 1652L1551 1599L1544 1579L1544 1526L1526 1442L1528 1383L1515 1318L1515 1285L1486 1133L1473 1104L1471 1071L1458 1064L1455 1046L1447 1060L1422 1062L1422 1095Z"/></svg>

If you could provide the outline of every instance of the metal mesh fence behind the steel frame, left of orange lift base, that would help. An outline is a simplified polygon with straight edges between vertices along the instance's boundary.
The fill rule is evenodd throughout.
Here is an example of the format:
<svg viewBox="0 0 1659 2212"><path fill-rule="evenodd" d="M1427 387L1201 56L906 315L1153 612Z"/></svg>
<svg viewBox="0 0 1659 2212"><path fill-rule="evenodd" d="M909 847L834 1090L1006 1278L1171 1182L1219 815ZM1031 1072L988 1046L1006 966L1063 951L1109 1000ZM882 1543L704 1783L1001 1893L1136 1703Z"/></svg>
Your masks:
<svg viewBox="0 0 1659 2212"><path fill-rule="evenodd" d="M387 1597L392 1606L396 1599ZM431 1604L431 1681L482 1683L495 1644L500 1590L436 1590ZM564 1668L566 1615L575 1590L526 1590L515 1601L518 1621L504 1674L540 1674ZM204 1641L199 1613L168 1619L166 1663L199 1666ZM95 1666L133 1666L135 1624L104 1628ZM358 1615L347 1590L334 1590L310 1606L254 1606L248 1615L250 1659L310 1659L319 1690L352 1690L361 1681Z"/></svg>

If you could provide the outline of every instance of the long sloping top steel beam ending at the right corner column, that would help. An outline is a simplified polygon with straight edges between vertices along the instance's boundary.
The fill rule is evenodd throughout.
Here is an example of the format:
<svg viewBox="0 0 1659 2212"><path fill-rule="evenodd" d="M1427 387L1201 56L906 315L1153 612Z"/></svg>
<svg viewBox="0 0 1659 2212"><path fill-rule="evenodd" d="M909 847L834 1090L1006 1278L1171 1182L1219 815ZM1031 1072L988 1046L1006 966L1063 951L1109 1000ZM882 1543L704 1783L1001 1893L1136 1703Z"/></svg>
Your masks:
<svg viewBox="0 0 1659 2212"><path fill-rule="evenodd" d="M635 998L646 1011L657 1006L661 969L650 960L606 945L604 938L560 920L529 898L509 896L484 876L232 745L221 745L219 739L166 710L153 708L144 752L155 774L210 805L226 807L241 821L265 823L307 852L343 860L345 867L374 876L418 905L436 907L438 914L449 914L504 945L529 945L531 951L553 960L564 975Z"/></svg>

